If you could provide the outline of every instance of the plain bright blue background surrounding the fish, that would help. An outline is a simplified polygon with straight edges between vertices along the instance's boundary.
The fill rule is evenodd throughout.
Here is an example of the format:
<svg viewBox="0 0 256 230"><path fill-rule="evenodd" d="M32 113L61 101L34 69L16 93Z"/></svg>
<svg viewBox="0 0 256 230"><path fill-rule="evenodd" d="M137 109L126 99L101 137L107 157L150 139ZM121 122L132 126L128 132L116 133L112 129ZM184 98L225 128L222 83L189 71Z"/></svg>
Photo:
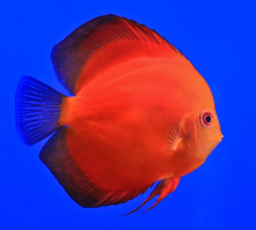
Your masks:
<svg viewBox="0 0 256 230"><path fill-rule="evenodd" d="M253 1L64 1L0 3L0 230L256 229ZM116 218L144 201L83 209L64 192L15 130L15 90L31 75L67 95L50 62L52 47L84 22L118 14L155 29L204 76L215 97L223 141L154 209ZM144 207L147 208L153 204Z"/></svg>

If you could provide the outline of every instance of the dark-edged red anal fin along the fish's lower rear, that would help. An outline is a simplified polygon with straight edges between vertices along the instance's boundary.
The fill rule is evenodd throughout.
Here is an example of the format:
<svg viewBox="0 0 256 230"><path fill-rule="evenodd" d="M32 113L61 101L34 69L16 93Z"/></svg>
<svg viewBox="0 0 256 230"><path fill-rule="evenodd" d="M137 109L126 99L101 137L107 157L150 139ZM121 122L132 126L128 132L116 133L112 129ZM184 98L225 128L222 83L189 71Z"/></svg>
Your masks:
<svg viewBox="0 0 256 230"><path fill-rule="evenodd" d="M152 186L148 184L127 190L110 187L108 179L115 178L106 178L108 169L98 167L96 161L90 159L90 150L80 142L71 127L62 127L44 145L40 159L81 207L122 204L145 193Z"/></svg>

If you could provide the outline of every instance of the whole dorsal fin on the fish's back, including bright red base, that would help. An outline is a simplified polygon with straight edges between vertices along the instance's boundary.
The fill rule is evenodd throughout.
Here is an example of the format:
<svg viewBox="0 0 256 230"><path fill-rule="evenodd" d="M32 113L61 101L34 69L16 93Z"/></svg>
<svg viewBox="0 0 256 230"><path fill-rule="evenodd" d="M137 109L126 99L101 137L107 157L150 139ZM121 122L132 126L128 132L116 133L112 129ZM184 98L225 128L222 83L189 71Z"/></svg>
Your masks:
<svg viewBox="0 0 256 230"><path fill-rule="evenodd" d="M53 47L51 59L58 80L76 95L95 72L113 64L121 56L127 57L129 52L130 55L131 52L152 53L148 44L164 46L164 50L168 47L180 53L147 26L109 14L96 17L74 30ZM158 49L157 52L159 55Z"/></svg>

